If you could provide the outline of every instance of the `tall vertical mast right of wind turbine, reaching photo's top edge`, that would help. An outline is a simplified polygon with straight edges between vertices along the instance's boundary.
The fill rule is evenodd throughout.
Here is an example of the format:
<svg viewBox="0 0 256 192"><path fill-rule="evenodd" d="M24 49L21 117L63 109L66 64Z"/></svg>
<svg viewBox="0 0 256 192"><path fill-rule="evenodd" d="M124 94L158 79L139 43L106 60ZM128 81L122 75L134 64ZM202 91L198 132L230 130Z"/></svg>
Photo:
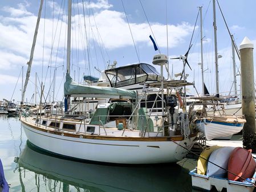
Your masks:
<svg viewBox="0 0 256 192"><path fill-rule="evenodd" d="M216 9L215 0L213 0L213 27L214 27L214 47L215 47L215 68L216 68L216 93L219 91L219 77L218 77L218 50L217 50L217 26L216 26Z"/></svg>

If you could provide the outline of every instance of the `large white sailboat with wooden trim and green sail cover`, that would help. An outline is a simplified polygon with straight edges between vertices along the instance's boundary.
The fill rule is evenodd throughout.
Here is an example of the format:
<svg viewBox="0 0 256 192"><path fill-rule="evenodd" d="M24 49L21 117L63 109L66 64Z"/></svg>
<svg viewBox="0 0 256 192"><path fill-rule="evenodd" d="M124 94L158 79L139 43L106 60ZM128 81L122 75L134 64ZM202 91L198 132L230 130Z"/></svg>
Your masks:
<svg viewBox="0 0 256 192"><path fill-rule="evenodd" d="M162 54L154 56L153 64L161 66L161 82L147 87L161 86L162 100L161 112L156 118L161 122L154 124L151 113L148 114L145 108L138 108L143 96L136 91L76 83L70 76L71 10L72 1L69 0L65 111L68 113L70 97L103 97L111 99L111 102L98 104L92 117L21 117L28 140L48 153L78 160L113 164L180 161L192 148L197 132L190 130L186 113L175 111L177 97L169 94L164 99L164 88L193 84L185 80L164 81L162 66L166 64L167 57Z"/></svg>

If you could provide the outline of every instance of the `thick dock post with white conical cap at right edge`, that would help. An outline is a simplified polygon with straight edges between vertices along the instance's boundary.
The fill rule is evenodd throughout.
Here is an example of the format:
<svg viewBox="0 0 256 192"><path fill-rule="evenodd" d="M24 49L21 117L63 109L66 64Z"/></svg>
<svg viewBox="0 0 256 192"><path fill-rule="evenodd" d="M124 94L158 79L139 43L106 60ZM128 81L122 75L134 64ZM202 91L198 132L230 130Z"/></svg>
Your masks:
<svg viewBox="0 0 256 192"><path fill-rule="evenodd" d="M245 37L239 50L241 54L242 113L246 119L246 124L243 126L243 148L252 149L253 153L256 153L253 48L253 43Z"/></svg>

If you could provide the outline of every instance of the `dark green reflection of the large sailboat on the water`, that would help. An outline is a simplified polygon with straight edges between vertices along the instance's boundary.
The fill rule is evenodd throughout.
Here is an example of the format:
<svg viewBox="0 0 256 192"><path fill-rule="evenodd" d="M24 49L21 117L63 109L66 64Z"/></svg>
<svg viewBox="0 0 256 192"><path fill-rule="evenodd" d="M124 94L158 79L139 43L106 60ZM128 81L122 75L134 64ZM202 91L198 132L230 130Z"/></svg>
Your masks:
<svg viewBox="0 0 256 192"><path fill-rule="evenodd" d="M87 164L43 154L29 141L21 156L14 161L17 163L23 192L192 191L188 170L177 164Z"/></svg>

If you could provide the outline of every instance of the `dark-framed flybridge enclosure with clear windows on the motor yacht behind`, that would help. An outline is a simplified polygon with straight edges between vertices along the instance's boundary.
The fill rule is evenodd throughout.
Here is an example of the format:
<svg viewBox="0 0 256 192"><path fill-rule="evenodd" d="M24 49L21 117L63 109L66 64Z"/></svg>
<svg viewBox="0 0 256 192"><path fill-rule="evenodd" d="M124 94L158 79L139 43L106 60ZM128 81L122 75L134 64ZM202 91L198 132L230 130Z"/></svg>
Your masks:
<svg viewBox="0 0 256 192"><path fill-rule="evenodd" d="M123 87L144 81L161 81L161 75L156 71L156 68L146 63L112 68L105 70L105 74L111 87Z"/></svg>

